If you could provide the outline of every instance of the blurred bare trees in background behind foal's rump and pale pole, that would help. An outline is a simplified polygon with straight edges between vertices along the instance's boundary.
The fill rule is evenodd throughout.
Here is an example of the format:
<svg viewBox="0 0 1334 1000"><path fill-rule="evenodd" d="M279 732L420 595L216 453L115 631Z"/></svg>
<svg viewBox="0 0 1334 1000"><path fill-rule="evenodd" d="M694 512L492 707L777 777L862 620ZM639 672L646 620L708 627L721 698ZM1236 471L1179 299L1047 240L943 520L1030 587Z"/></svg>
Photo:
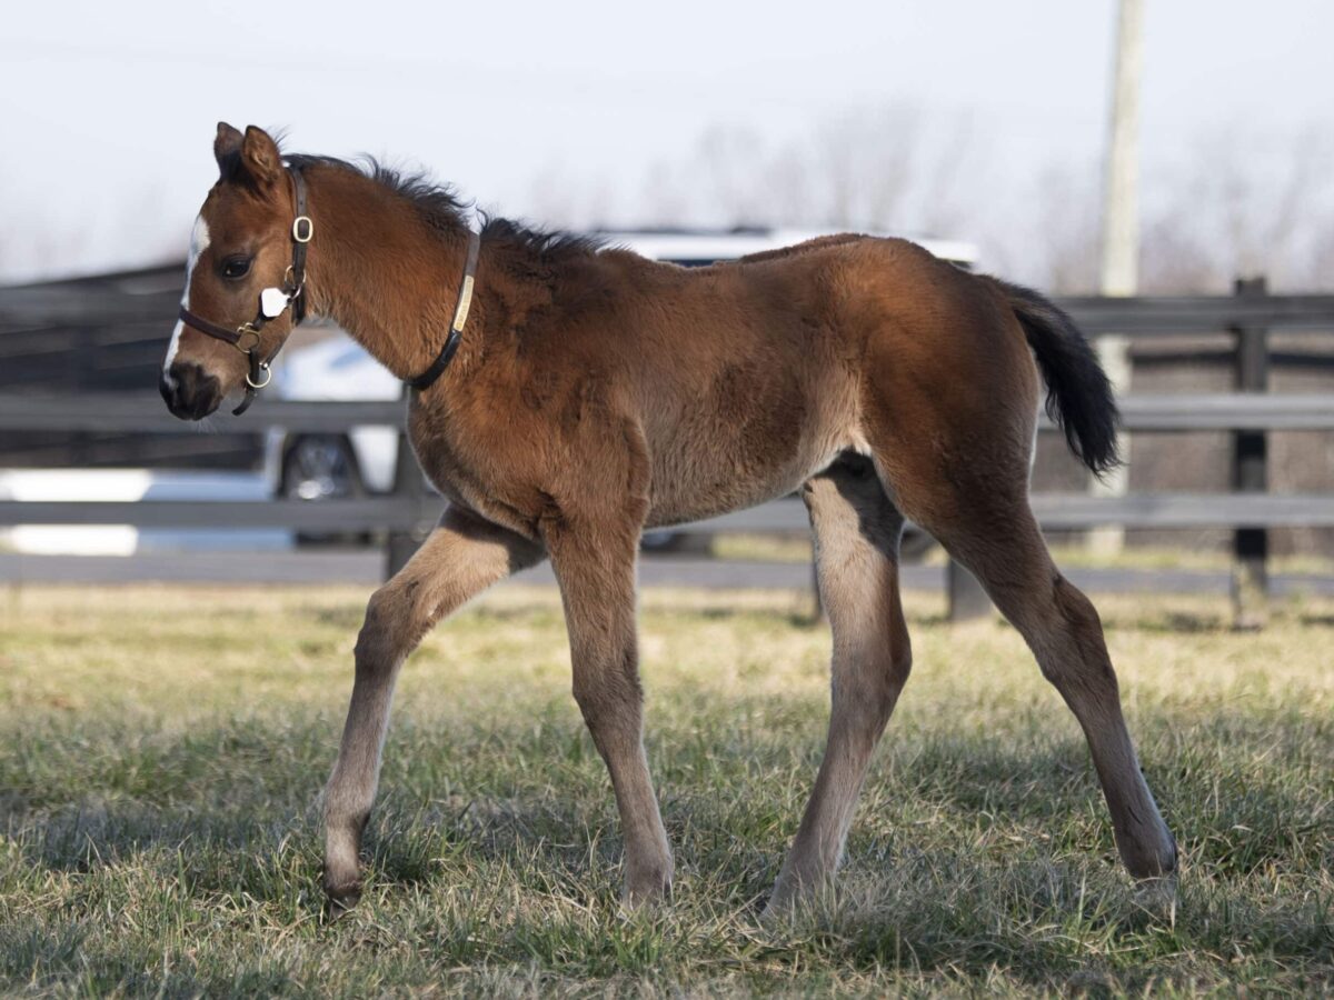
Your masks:
<svg viewBox="0 0 1334 1000"><path fill-rule="evenodd" d="M534 204L575 225L782 224L958 236L983 264L1057 292L1097 288L1099 180L1093 160L1054 163L1030 179L998 177L994 144L966 115L908 104L859 107L787 141L715 124L682 156L647 171L620 203L600 179L548 171ZM1242 128L1159 156L1143 179L1141 287L1226 292L1239 273L1271 285L1334 283L1334 140Z"/></svg>

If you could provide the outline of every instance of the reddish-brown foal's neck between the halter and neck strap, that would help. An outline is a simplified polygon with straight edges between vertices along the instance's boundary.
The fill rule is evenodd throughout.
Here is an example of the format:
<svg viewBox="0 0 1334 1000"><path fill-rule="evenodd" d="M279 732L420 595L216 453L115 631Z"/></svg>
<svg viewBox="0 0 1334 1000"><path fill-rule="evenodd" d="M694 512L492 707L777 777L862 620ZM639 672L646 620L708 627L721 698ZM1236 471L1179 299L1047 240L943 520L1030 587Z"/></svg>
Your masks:
<svg viewBox="0 0 1334 1000"><path fill-rule="evenodd" d="M427 220L402 195L352 171L312 167L307 183L311 309L399 379L420 375L450 329L467 225L462 217Z"/></svg>

